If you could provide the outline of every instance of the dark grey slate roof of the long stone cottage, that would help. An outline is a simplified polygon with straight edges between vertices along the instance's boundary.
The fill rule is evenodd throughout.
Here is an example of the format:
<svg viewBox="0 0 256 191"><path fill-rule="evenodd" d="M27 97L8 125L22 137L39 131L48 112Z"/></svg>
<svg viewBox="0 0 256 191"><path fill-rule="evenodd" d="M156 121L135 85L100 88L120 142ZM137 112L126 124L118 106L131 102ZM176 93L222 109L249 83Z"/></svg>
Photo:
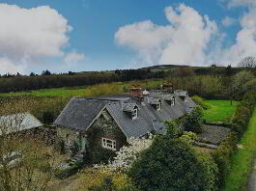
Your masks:
<svg viewBox="0 0 256 191"><path fill-rule="evenodd" d="M160 100L160 93L149 96L150 99ZM122 102L124 111L131 111L134 106L138 107L137 119L132 120L128 113L122 110ZM161 99L161 109L158 111L147 96L144 99L128 97L127 95L120 97L120 99L113 96L100 98L74 97L54 123L74 130L86 130L94 123L103 109L109 112L128 138L142 137L152 131L157 134L164 134L166 129L164 129L164 123L162 122L178 119L186 114L185 101L178 96L173 106L166 100Z"/></svg>

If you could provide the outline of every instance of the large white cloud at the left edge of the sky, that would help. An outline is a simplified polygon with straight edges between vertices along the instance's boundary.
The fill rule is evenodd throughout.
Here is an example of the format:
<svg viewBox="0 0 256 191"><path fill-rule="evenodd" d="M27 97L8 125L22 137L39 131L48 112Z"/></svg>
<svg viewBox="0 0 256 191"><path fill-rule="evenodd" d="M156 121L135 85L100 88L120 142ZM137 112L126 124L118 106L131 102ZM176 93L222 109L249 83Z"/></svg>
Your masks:
<svg viewBox="0 0 256 191"><path fill-rule="evenodd" d="M63 47L69 45L68 20L54 9L41 6L23 9L0 4L0 57L19 68L22 59L29 64L49 57L62 57ZM0 67L9 70L3 64Z"/></svg>

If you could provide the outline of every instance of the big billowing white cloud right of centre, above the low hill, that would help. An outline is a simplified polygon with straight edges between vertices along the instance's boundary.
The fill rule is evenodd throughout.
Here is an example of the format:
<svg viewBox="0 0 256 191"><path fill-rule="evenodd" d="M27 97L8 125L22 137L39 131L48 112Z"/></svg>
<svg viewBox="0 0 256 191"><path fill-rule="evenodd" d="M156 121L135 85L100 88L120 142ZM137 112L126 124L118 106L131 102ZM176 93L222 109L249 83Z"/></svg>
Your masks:
<svg viewBox="0 0 256 191"><path fill-rule="evenodd" d="M217 34L215 21L184 4L165 9L170 24L159 26L142 21L121 27L115 34L118 44L138 52L147 64L202 65L206 50Z"/></svg>

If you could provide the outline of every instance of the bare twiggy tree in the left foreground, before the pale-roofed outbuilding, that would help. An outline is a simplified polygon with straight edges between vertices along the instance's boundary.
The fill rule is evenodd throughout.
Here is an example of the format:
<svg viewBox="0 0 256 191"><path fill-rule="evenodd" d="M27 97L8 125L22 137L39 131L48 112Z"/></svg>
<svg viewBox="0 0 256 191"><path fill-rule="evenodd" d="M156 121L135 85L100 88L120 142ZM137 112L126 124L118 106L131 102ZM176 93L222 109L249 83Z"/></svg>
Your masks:
<svg viewBox="0 0 256 191"><path fill-rule="evenodd" d="M1 104L0 190L43 191L59 164L58 154L40 136L22 131L24 109Z"/></svg>

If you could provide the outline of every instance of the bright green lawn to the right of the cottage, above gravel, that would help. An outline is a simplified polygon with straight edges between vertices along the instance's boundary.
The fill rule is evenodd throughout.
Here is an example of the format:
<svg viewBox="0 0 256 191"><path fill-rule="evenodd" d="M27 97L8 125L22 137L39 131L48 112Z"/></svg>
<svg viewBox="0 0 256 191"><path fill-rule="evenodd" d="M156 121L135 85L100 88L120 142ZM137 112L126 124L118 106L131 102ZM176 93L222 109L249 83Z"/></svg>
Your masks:
<svg viewBox="0 0 256 191"><path fill-rule="evenodd" d="M238 101L232 101L231 106L229 100L205 100L205 102L211 105L211 109L206 110L204 117L210 123L229 123L239 104Z"/></svg>

